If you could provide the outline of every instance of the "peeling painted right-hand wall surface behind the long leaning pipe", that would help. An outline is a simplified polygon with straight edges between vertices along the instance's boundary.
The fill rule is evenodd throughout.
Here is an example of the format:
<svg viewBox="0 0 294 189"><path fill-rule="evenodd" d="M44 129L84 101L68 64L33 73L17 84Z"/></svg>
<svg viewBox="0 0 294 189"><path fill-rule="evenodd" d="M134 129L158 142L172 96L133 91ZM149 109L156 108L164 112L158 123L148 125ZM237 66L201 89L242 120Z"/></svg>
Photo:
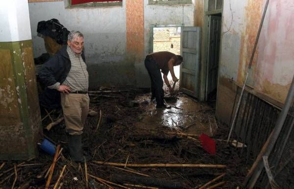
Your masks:
<svg viewBox="0 0 294 189"><path fill-rule="evenodd" d="M236 86L243 85L266 0L225 0L217 117L228 123ZM270 0L247 84L284 102L294 74L294 1Z"/></svg>

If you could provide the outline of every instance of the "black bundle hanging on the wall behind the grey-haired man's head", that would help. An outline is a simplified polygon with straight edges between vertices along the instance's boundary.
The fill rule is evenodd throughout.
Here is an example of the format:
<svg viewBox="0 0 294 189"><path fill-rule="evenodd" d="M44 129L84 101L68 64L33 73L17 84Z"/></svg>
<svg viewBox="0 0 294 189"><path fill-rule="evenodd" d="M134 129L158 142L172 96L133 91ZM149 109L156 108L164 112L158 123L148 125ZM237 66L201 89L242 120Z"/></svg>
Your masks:
<svg viewBox="0 0 294 189"><path fill-rule="evenodd" d="M51 37L60 45L65 45L67 43L67 36L70 33L57 19L40 21L37 26L37 32Z"/></svg>

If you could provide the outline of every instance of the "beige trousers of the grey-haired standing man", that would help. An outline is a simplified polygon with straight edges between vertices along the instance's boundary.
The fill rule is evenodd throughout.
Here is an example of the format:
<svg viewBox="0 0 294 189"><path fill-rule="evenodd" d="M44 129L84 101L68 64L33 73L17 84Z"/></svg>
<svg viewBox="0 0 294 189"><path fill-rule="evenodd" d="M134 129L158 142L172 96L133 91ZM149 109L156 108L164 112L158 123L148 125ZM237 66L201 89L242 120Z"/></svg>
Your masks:
<svg viewBox="0 0 294 189"><path fill-rule="evenodd" d="M84 124L89 112L88 94L61 93L61 106L63 110L66 130L70 135L83 133Z"/></svg>

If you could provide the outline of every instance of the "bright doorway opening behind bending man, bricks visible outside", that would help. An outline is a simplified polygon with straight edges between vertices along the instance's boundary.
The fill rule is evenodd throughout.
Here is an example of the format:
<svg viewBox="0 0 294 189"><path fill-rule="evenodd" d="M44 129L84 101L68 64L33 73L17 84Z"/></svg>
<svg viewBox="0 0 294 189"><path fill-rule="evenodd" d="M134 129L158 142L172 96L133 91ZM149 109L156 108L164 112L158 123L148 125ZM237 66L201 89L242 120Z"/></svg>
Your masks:
<svg viewBox="0 0 294 189"><path fill-rule="evenodd" d="M180 54L181 26L154 26L152 30L152 52L169 51ZM173 69L175 76L180 78L180 67ZM168 74L168 79L172 83L171 73Z"/></svg>

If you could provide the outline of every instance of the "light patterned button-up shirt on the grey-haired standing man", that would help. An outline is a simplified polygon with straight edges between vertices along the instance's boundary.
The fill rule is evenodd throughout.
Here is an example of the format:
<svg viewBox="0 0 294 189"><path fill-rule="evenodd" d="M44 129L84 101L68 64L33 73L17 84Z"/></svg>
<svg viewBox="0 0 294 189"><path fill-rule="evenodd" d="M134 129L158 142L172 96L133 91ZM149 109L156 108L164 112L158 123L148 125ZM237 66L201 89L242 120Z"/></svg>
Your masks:
<svg viewBox="0 0 294 189"><path fill-rule="evenodd" d="M71 88L71 91L88 91L89 75L87 66L80 54L75 54L70 47L67 52L71 60L71 70L62 85Z"/></svg>

